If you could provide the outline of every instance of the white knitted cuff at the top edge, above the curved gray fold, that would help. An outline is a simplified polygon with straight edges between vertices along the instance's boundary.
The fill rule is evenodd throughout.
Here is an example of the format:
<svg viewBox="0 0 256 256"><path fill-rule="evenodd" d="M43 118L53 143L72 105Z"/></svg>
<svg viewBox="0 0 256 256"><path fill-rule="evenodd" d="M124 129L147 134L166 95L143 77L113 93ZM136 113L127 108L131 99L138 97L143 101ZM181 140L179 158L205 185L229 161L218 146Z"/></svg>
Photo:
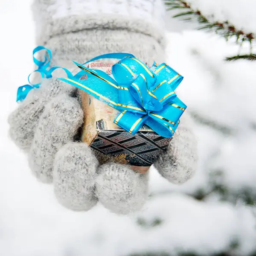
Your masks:
<svg viewBox="0 0 256 256"><path fill-rule="evenodd" d="M162 43L162 0L34 0L37 43L64 33L121 29L150 35Z"/></svg>

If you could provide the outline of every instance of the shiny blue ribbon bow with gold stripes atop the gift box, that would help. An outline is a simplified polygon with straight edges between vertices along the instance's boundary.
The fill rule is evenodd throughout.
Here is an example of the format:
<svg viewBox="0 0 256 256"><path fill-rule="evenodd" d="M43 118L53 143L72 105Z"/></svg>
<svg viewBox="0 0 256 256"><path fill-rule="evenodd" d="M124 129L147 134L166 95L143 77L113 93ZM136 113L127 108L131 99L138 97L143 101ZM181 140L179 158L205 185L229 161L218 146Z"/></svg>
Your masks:
<svg viewBox="0 0 256 256"><path fill-rule="evenodd" d="M84 65L101 58L120 59L112 66L112 75ZM186 105L178 99L175 89L183 80L175 70L162 63L148 68L129 53L100 55L83 65L73 78L59 78L78 87L120 111L114 123L136 134L143 124L163 137L172 137ZM86 80L79 80L84 74Z"/></svg>

